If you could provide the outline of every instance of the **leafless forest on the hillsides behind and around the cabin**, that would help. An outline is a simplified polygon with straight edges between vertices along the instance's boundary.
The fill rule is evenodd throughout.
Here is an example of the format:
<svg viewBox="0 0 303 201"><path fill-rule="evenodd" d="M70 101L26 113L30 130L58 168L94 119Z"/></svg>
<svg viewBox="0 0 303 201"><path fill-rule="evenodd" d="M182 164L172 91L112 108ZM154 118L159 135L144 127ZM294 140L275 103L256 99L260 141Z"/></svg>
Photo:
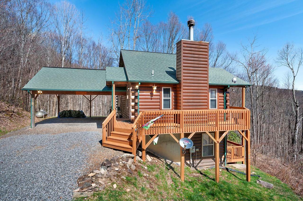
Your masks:
<svg viewBox="0 0 303 201"><path fill-rule="evenodd" d="M117 5L108 33L98 40L90 37L85 13L67 1L1 0L0 15L0 100L27 111L29 94L21 88L43 66L105 69L118 65L120 49L175 53L177 41L188 38L186 21L174 12L151 23L153 9L144 0ZM261 154L283 164L299 164L302 173L303 92L295 90L302 48L285 41L275 61L269 62L267 48L253 35L240 43L237 53L231 53L224 41L214 38L211 24L203 23L196 21L194 38L210 43L210 67L224 68L253 84L246 90L246 107L251 110L255 165L261 164L257 160ZM276 68L289 69L283 81L275 76ZM241 92L237 88L230 91L231 105L239 106ZM50 116L56 115L55 95L39 96L36 105ZM87 114L88 107L83 96L61 96L62 110L81 109ZM92 101L92 115L106 116L110 107L111 96L98 96Z"/></svg>

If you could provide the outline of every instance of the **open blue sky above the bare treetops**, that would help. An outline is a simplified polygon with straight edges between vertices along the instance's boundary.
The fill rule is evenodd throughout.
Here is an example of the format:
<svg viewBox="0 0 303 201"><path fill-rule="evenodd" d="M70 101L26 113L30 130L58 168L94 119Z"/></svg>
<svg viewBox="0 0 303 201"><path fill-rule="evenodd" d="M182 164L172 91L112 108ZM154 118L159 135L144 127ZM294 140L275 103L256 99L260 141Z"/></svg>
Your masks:
<svg viewBox="0 0 303 201"><path fill-rule="evenodd" d="M70 0L70 2L85 12L90 34L94 38L103 36L106 43L109 18L114 18L119 1ZM240 42L246 41L247 37L258 32L258 43L260 47L268 48L267 56L274 65L277 51L286 41L294 41L296 47L303 48L302 0L147 0L147 2L155 11L149 19L154 23L165 21L170 11L174 11L184 23L187 22L188 15L194 16L197 26L205 22L211 23L215 40L225 42L228 51L239 51ZM276 75L283 79L287 71L286 67L277 67ZM303 67L299 71L296 87L303 90Z"/></svg>

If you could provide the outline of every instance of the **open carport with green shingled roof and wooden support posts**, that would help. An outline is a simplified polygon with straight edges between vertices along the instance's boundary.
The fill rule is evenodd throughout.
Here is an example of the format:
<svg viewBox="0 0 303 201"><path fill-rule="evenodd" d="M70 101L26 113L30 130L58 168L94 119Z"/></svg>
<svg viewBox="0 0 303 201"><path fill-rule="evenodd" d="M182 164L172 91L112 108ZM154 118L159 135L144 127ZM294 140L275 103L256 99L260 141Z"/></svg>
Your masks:
<svg viewBox="0 0 303 201"><path fill-rule="evenodd" d="M31 128L35 127L35 100L43 94L55 94L58 114L61 95L83 95L90 103L99 95L112 95L112 108L115 95L126 95L126 87L107 86L106 71L83 68L42 67L40 71L22 88L31 95ZM108 84L109 85L109 84Z"/></svg>

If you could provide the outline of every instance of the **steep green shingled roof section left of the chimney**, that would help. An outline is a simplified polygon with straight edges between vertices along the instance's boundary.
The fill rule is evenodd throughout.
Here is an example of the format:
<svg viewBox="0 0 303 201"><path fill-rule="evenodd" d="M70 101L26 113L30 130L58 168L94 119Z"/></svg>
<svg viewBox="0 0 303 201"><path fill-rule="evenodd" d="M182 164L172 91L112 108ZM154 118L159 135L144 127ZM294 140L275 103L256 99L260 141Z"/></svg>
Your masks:
<svg viewBox="0 0 303 201"><path fill-rule="evenodd" d="M121 53L130 82L179 83L176 54L130 50L121 50Z"/></svg>

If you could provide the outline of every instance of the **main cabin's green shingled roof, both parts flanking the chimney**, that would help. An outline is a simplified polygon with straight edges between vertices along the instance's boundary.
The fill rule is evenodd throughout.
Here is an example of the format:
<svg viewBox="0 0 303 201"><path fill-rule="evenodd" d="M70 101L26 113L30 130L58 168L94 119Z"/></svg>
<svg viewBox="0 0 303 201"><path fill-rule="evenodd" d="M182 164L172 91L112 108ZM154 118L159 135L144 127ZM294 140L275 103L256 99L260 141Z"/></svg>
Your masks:
<svg viewBox="0 0 303 201"><path fill-rule="evenodd" d="M121 50L129 81L178 83L176 78L176 54ZM154 76L151 75L154 70ZM209 68L208 83L211 85L248 85L248 82L237 78L222 68Z"/></svg>

